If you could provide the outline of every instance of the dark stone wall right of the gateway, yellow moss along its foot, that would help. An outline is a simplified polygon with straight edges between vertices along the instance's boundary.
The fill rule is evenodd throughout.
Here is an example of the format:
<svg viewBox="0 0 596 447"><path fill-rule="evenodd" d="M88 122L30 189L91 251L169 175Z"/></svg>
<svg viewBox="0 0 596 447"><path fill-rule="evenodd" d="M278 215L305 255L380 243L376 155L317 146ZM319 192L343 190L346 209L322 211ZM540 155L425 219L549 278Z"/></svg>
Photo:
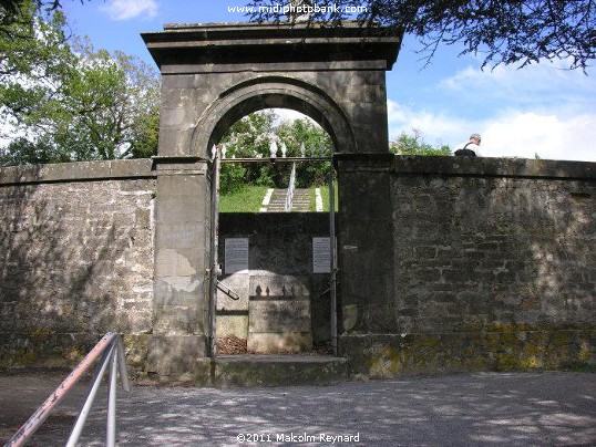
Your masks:
<svg viewBox="0 0 596 447"><path fill-rule="evenodd" d="M596 362L595 164L377 158L391 171L395 326L354 374Z"/></svg>

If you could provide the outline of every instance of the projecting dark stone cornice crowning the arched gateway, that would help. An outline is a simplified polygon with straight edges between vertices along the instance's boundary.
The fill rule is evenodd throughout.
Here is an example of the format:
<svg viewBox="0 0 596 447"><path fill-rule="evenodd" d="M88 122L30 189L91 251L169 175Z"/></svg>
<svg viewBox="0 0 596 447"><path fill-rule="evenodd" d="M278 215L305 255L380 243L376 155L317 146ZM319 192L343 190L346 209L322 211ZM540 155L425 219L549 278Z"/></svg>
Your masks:
<svg viewBox="0 0 596 447"><path fill-rule="evenodd" d="M389 70L397 60L402 33L369 30L356 22L343 27L289 23L172 23L161 32L141 33L160 67L196 65L196 72L215 65L249 63L383 61ZM226 69L229 70L229 69Z"/></svg>

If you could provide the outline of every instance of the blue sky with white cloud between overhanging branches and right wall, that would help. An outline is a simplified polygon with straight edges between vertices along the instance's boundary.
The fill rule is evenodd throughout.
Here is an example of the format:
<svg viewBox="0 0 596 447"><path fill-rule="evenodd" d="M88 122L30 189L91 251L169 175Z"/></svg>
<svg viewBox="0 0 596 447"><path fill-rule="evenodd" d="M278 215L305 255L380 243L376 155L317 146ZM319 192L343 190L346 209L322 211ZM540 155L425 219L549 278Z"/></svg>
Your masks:
<svg viewBox="0 0 596 447"><path fill-rule="evenodd" d="M423 107L389 100L390 138L417 128L428 143L453 148L477 132L485 156L596 162L596 73L590 74L553 64L466 67L443 79Z"/></svg>

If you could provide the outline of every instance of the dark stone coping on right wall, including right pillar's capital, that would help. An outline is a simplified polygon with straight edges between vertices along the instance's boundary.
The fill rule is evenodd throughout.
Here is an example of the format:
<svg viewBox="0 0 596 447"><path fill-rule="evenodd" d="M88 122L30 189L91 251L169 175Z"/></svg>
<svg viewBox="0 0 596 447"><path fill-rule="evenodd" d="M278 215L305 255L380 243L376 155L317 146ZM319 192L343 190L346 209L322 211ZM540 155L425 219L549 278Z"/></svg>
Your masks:
<svg viewBox="0 0 596 447"><path fill-rule="evenodd" d="M596 163L528 158L336 154L345 170L379 170L397 175L596 179Z"/></svg>

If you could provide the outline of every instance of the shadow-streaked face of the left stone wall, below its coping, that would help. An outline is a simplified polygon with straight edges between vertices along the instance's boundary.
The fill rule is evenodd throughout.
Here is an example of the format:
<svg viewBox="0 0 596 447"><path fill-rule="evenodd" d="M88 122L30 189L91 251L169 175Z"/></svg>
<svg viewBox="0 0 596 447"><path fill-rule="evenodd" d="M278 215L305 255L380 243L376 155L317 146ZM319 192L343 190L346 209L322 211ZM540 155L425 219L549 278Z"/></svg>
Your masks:
<svg viewBox="0 0 596 447"><path fill-rule="evenodd" d="M105 332L133 329L135 303L123 294L138 280L131 276L143 273L130 258L146 243L135 238L150 227L150 210L135 209L125 189L112 181L0 186L0 367L70 366ZM151 308L143 312L150 324Z"/></svg>

